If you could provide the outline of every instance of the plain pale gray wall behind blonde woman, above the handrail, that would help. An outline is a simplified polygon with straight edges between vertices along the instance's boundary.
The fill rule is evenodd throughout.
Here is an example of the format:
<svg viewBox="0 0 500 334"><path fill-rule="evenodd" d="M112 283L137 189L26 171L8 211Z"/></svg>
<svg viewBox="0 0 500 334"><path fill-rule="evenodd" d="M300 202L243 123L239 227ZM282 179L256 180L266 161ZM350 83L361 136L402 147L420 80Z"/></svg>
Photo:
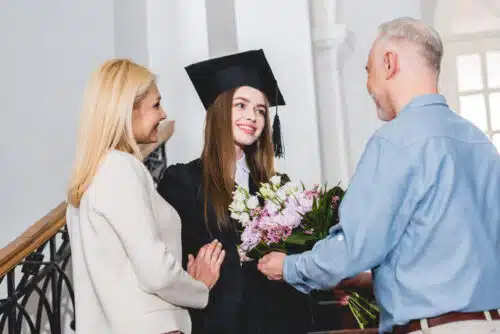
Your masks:
<svg viewBox="0 0 500 334"><path fill-rule="evenodd" d="M0 246L65 198L83 88L114 53L113 1L1 1Z"/></svg>

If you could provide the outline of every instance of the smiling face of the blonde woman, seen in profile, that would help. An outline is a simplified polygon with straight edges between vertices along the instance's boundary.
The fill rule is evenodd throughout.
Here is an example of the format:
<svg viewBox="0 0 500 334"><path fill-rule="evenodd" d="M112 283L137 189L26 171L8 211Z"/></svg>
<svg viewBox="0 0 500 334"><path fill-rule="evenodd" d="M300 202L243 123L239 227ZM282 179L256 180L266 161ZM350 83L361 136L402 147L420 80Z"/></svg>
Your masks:
<svg viewBox="0 0 500 334"><path fill-rule="evenodd" d="M160 104L161 96L155 84L132 112L132 130L138 144L158 141L158 125L165 119L165 111Z"/></svg>

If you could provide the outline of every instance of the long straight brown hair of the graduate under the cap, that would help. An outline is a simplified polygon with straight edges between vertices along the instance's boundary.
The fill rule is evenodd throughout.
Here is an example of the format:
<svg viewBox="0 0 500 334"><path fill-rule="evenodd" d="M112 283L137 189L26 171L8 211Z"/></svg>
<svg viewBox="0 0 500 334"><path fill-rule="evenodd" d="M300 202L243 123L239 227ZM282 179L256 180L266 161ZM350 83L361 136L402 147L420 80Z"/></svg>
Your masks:
<svg viewBox="0 0 500 334"><path fill-rule="evenodd" d="M219 229L229 227L228 208L234 190L236 152L232 128L232 106L236 89L220 94L208 108L203 147L204 216L208 222L208 199L214 208ZM264 130L250 146L245 157L253 182L268 182L274 174L274 149L271 140L269 108L266 106Z"/></svg>

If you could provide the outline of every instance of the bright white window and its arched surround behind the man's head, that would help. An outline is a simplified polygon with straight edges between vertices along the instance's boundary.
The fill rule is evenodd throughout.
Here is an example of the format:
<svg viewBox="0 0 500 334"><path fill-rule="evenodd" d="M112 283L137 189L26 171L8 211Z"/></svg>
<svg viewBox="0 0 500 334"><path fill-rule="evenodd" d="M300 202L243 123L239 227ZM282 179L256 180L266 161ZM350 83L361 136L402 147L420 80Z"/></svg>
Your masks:
<svg viewBox="0 0 500 334"><path fill-rule="evenodd" d="M443 38L439 88L450 107L482 129L500 152L500 2L436 0Z"/></svg>

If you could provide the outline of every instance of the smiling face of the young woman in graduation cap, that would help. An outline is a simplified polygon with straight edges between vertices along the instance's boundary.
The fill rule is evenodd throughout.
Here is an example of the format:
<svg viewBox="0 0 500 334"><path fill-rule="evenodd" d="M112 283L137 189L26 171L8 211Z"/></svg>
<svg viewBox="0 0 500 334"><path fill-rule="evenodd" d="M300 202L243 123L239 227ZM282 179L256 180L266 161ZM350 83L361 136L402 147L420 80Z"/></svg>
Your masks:
<svg viewBox="0 0 500 334"><path fill-rule="evenodd" d="M234 142L244 149L262 134L268 112L266 98L255 88L240 87L234 92L231 110Z"/></svg>

